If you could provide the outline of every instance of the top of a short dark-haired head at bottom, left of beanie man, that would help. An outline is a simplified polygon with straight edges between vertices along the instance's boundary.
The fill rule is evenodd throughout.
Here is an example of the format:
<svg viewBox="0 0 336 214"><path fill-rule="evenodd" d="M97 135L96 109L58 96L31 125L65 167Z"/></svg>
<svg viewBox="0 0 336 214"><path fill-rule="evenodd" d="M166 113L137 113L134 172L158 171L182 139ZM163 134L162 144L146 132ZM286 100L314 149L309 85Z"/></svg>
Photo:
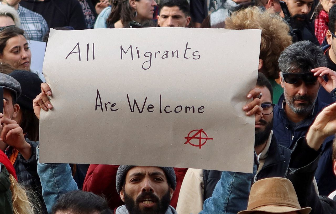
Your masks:
<svg viewBox="0 0 336 214"><path fill-rule="evenodd" d="M62 195L52 206L52 214L57 211L68 211L73 214L91 214L98 212L99 214L113 214L104 198L85 192L75 190Z"/></svg>

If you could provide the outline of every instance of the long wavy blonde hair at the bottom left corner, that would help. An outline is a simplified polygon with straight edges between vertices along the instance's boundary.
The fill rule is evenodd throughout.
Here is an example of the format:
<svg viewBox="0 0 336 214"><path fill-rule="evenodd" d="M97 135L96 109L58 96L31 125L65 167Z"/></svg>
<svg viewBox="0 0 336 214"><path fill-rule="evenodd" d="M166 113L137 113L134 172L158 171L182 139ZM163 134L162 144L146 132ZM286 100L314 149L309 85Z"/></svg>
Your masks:
<svg viewBox="0 0 336 214"><path fill-rule="evenodd" d="M13 175L9 174L10 191L12 192L13 214L35 214L39 213L31 201L37 200L34 192L27 191L19 184Z"/></svg>

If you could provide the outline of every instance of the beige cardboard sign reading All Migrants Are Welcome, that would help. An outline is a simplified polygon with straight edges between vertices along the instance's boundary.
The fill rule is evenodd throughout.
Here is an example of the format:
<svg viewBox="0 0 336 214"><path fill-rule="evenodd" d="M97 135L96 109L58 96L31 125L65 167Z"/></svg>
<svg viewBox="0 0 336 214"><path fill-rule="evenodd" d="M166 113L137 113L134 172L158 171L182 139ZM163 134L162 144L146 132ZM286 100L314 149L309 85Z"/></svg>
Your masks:
<svg viewBox="0 0 336 214"><path fill-rule="evenodd" d="M260 30L51 30L40 161L252 172Z"/></svg>

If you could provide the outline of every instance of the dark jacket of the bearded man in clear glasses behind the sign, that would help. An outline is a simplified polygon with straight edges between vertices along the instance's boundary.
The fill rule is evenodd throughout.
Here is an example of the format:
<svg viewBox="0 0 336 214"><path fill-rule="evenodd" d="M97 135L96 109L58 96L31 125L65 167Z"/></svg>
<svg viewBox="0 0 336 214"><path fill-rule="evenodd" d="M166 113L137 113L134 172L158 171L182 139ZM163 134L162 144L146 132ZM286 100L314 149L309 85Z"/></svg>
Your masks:
<svg viewBox="0 0 336 214"><path fill-rule="evenodd" d="M291 150L279 145L275 135L273 134L269 145L268 156L261 170L257 174L257 180L269 177L285 177ZM203 170L204 179L204 200L212 196L217 182L222 175L222 171Z"/></svg>

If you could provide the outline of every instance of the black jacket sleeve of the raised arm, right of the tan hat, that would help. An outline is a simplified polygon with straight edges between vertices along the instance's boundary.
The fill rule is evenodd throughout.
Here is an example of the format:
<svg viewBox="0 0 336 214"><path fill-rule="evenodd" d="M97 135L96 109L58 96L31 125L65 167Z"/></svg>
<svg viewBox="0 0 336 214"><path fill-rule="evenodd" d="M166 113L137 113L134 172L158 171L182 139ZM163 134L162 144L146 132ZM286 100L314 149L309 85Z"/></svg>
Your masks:
<svg viewBox="0 0 336 214"><path fill-rule="evenodd" d="M288 175L296 191L300 206L311 207L310 214L335 214L336 202L326 196L318 196L312 180L318 168L322 149L315 151L301 137L291 154Z"/></svg>

